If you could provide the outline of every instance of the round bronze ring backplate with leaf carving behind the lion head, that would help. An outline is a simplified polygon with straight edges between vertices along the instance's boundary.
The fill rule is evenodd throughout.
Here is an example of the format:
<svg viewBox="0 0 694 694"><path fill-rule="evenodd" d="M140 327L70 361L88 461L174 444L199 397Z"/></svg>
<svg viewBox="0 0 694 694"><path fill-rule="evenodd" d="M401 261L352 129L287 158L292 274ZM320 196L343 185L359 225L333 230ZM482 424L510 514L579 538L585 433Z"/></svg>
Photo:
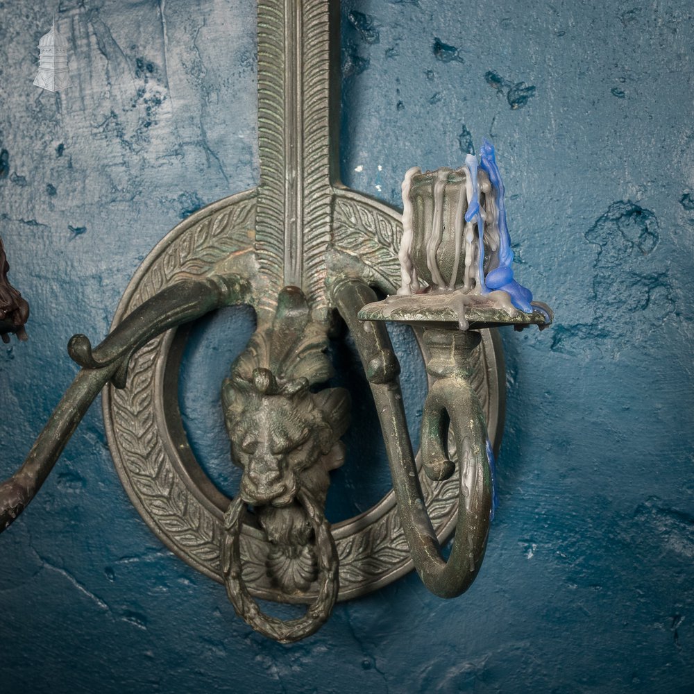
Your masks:
<svg viewBox="0 0 694 694"><path fill-rule="evenodd" d="M400 215L361 194L335 189L330 263L348 266L384 294L398 285ZM257 276L255 190L224 198L180 223L146 257L130 281L113 326L174 282L220 273ZM268 287L257 280L257 294ZM281 287L274 288L276 293ZM496 332L482 330L473 386L498 449L504 417L503 357ZM181 559L222 582L220 539L230 503L196 461L178 409L178 367L187 331L170 330L139 350L124 389L104 391L103 414L115 466L130 500L156 536ZM420 347L423 358L428 354ZM221 386L221 384L220 384ZM230 462L231 464L231 462ZM457 473L444 482L421 475L434 530L450 536L457 517ZM369 593L412 570L391 489L364 514L332 526L339 555L339 600ZM277 600L266 575L269 542L251 524L242 533L244 580L257 598ZM310 602L315 589L287 602Z"/></svg>

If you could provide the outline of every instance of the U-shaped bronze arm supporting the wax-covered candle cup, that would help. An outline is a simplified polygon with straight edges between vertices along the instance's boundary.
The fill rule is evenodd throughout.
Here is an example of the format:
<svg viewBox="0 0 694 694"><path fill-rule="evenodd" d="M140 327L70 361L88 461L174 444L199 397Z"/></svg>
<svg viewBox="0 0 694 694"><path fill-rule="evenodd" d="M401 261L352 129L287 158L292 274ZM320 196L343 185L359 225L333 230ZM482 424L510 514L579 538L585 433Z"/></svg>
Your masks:
<svg viewBox="0 0 694 694"><path fill-rule="evenodd" d="M403 398L398 383L400 367L385 325L361 323L357 313L376 300L363 280L342 277L331 283L337 309L352 333L366 378L369 380L388 453L398 514L412 560L423 583L441 598L460 595L472 584L480 569L491 515L491 469L486 452L486 425L479 400L466 380L464 364L445 366L437 357L439 332L432 330L430 372L434 382L424 406L422 455L425 473L445 479L453 472L448 459L448 428L456 441L459 465L459 511L455 541L448 561L425 508L418 471L407 431ZM446 331L450 332L450 331ZM453 332L468 338L468 333ZM461 339L454 337L453 339ZM471 339L478 339L475 336ZM443 347L443 344L438 346ZM454 349L455 345L450 349ZM437 364L437 359L439 363ZM434 369L434 371L432 371Z"/></svg>

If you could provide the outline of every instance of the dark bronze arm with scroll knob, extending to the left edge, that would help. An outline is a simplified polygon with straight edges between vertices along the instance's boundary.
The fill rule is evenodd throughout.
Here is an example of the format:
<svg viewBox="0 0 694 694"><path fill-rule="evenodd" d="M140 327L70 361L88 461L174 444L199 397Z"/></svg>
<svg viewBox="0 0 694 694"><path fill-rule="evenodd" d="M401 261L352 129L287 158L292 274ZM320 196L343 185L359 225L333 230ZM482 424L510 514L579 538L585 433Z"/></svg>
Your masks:
<svg viewBox="0 0 694 694"><path fill-rule="evenodd" d="M24 464L0 483L0 532L33 499L99 391L109 381L119 388L125 386L130 357L139 348L169 328L221 306L244 303L248 296L248 283L237 276L183 280L137 307L96 348L92 349L84 335L72 337L69 354L83 368L53 410Z"/></svg>

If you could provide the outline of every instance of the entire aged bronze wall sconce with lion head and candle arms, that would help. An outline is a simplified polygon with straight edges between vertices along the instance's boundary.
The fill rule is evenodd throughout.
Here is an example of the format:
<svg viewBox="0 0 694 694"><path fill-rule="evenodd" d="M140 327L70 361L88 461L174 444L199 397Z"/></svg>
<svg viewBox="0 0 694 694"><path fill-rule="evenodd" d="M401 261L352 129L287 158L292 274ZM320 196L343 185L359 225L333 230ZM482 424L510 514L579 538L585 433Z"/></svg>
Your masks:
<svg viewBox="0 0 694 694"><path fill-rule="evenodd" d="M456 170L409 171L403 218L339 183L338 108L339 2L259 0L260 185L164 237L99 346L70 340L82 369L22 468L0 485L0 530L104 388L108 441L133 505L176 555L225 584L239 616L265 636L304 638L337 600L412 566L442 597L470 586L486 548L503 425L494 329L543 327L551 312L514 280L491 147L480 171L476 158ZM394 296L376 301L375 291ZM255 309L257 329L222 384L232 460L243 468L230 500L196 461L176 393L179 326L237 304ZM332 373L325 350L339 321L371 386L393 491L331 527L323 509L330 471L344 462L350 396L319 387ZM384 321L412 326L430 375L419 456ZM454 527L446 562L441 543ZM308 607L283 621L256 598Z"/></svg>

